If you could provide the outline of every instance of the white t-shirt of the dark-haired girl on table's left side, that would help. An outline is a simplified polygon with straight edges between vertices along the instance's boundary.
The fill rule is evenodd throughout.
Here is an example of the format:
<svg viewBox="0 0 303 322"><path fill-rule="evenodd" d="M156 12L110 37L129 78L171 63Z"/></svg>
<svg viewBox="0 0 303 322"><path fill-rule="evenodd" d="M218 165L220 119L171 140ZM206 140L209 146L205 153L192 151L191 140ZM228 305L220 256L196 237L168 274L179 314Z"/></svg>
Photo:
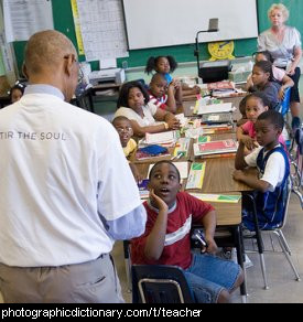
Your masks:
<svg viewBox="0 0 303 322"><path fill-rule="evenodd" d="M120 107L115 114L117 116L125 116L128 119L136 120L140 127L153 126L156 124L154 115L158 110L156 106L152 103L148 103L142 107L144 117L142 118L138 112L129 107Z"/></svg>

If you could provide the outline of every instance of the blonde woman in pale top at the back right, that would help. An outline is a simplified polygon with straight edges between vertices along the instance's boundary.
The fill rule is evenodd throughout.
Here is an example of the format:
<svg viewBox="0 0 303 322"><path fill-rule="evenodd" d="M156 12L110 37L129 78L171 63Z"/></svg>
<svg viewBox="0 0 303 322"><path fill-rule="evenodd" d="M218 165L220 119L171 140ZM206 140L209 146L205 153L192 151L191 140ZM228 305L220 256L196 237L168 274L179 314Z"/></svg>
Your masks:
<svg viewBox="0 0 303 322"><path fill-rule="evenodd" d="M285 69L294 82L291 88L291 112L292 128L295 129L301 126L297 88L301 74L297 66L302 56L301 35L295 28L284 24L289 19L289 10L284 4L273 3L268 11L268 17L271 28L259 35L258 51L269 51L274 60L273 64Z"/></svg>

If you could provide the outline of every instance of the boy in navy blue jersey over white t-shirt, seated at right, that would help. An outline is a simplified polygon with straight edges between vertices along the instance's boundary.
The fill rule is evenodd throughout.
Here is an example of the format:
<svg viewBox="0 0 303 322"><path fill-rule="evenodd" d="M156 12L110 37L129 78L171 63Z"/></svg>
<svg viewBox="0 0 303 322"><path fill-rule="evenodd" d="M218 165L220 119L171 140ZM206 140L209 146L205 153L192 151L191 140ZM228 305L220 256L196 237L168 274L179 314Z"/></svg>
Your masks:
<svg viewBox="0 0 303 322"><path fill-rule="evenodd" d="M261 146L245 157L245 143L239 141L234 179L256 190L256 207L260 229L281 224L283 215L283 194L290 174L290 163L279 137L284 127L284 119L279 111L268 110L259 115L256 122L257 141ZM257 167L259 179L246 175L241 170ZM253 213L247 205L242 210L244 225L255 230Z"/></svg>

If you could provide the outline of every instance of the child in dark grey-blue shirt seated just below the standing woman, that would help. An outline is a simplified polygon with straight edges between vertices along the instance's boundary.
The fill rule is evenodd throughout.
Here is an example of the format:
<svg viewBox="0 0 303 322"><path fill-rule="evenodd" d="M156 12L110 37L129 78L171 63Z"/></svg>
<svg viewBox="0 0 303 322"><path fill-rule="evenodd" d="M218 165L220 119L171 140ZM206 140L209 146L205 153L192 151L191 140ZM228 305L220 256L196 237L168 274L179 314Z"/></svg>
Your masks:
<svg viewBox="0 0 303 322"><path fill-rule="evenodd" d="M268 101L269 109L279 110L281 103L279 98L279 90L281 86L274 82L272 75L272 64L267 61L257 62L252 68L251 79L253 87L250 92L262 92Z"/></svg>

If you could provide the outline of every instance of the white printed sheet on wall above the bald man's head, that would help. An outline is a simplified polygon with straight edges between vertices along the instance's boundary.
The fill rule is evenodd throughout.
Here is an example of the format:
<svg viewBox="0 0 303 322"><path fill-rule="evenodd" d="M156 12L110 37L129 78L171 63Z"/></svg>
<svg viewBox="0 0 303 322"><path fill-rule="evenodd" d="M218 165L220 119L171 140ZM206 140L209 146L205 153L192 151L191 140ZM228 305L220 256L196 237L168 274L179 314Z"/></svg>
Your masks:
<svg viewBox="0 0 303 322"><path fill-rule="evenodd" d="M54 29L52 1L3 0L6 41L26 41L39 31Z"/></svg>

